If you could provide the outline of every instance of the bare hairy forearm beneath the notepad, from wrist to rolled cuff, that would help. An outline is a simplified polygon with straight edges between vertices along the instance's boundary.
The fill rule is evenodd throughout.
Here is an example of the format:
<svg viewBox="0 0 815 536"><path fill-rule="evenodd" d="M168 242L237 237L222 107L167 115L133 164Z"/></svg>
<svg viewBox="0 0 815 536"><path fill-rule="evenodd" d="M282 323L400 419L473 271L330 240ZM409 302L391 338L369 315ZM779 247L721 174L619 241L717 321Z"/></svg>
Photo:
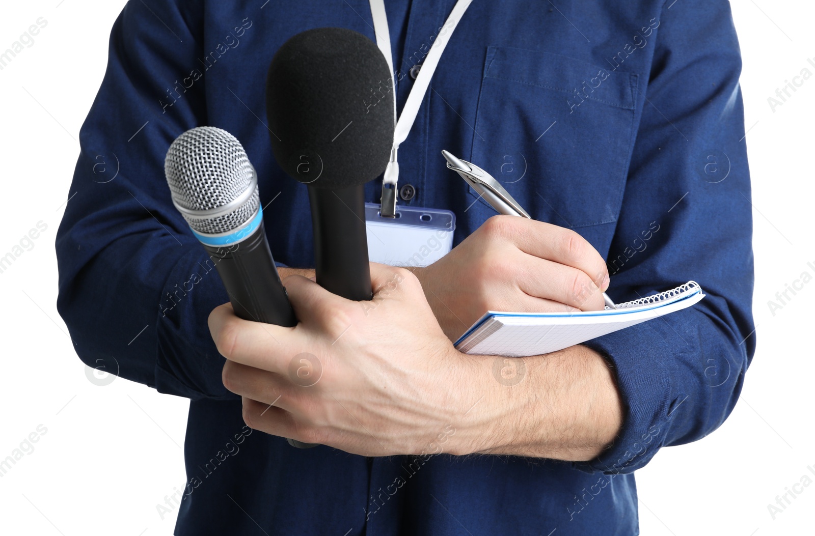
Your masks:
<svg viewBox="0 0 815 536"><path fill-rule="evenodd" d="M583 461L609 445L622 425L614 375L592 349L578 345L529 358L472 357L484 398L460 420L456 435L463 448L456 454ZM511 378L500 376L502 367L510 367Z"/></svg>

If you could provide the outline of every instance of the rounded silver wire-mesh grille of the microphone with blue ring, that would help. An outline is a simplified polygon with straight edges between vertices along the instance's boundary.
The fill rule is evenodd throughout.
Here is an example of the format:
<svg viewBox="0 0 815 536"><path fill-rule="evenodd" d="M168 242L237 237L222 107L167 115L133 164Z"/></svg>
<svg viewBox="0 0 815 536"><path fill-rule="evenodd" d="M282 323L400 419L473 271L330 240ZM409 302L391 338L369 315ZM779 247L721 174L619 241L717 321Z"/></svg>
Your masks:
<svg viewBox="0 0 815 536"><path fill-rule="evenodd" d="M255 171L238 139L214 126L199 126L178 136L167 150L164 171L173 202L194 231L218 235L236 231L260 206ZM207 216L253 188L249 199L228 213ZM190 213L192 212L192 214ZM201 212L200 216L195 212Z"/></svg>

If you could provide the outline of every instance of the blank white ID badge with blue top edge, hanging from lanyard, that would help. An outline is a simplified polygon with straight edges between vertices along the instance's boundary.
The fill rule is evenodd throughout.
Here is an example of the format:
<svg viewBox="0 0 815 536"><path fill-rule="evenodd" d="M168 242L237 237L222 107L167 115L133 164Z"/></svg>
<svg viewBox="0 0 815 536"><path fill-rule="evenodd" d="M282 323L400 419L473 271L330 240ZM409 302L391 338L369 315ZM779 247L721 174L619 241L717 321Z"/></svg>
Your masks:
<svg viewBox="0 0 815 536"><path fill-rule="evenodd" d="M456 214L443 209L396 207L381 217L380 205L365 204L368 260L390 266L428 266L450 253Z"/></svg>

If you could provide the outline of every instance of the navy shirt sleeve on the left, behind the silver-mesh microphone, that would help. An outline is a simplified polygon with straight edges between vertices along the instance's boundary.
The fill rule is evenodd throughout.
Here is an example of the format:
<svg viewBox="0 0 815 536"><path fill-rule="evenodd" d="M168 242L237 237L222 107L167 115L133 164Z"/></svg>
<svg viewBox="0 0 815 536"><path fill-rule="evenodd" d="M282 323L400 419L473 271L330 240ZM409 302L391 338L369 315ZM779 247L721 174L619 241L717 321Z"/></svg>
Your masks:
<svg viewBox="0 0 815 536"><path fill-rule="evenodd" d="M104 363L163 393L231 398L206 323L227 293L164 177L173 139L206 124L204 81L191 77L203 14L184 2L148 3L128 3L113 26L104 81L81 127L56 239L57 308L90 367Z"/></svg>

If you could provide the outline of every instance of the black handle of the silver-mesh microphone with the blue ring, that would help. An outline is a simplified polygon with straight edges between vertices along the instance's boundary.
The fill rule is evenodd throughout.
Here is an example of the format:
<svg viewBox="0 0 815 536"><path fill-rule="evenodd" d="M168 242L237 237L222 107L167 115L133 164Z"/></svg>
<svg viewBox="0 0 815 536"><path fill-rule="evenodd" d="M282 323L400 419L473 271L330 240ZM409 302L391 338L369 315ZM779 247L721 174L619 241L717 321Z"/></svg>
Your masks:
<svg viewBox="0 0 815 536"><path fill-rule="evenodd" d="M280 275L263 230L263 222L237 244L208 246L209 259L215 263L229 301L235 314L244 320L292 327L297 325L289 294ZM311 448L311 443L287 439L289 445L301 449Z"/></svg>

